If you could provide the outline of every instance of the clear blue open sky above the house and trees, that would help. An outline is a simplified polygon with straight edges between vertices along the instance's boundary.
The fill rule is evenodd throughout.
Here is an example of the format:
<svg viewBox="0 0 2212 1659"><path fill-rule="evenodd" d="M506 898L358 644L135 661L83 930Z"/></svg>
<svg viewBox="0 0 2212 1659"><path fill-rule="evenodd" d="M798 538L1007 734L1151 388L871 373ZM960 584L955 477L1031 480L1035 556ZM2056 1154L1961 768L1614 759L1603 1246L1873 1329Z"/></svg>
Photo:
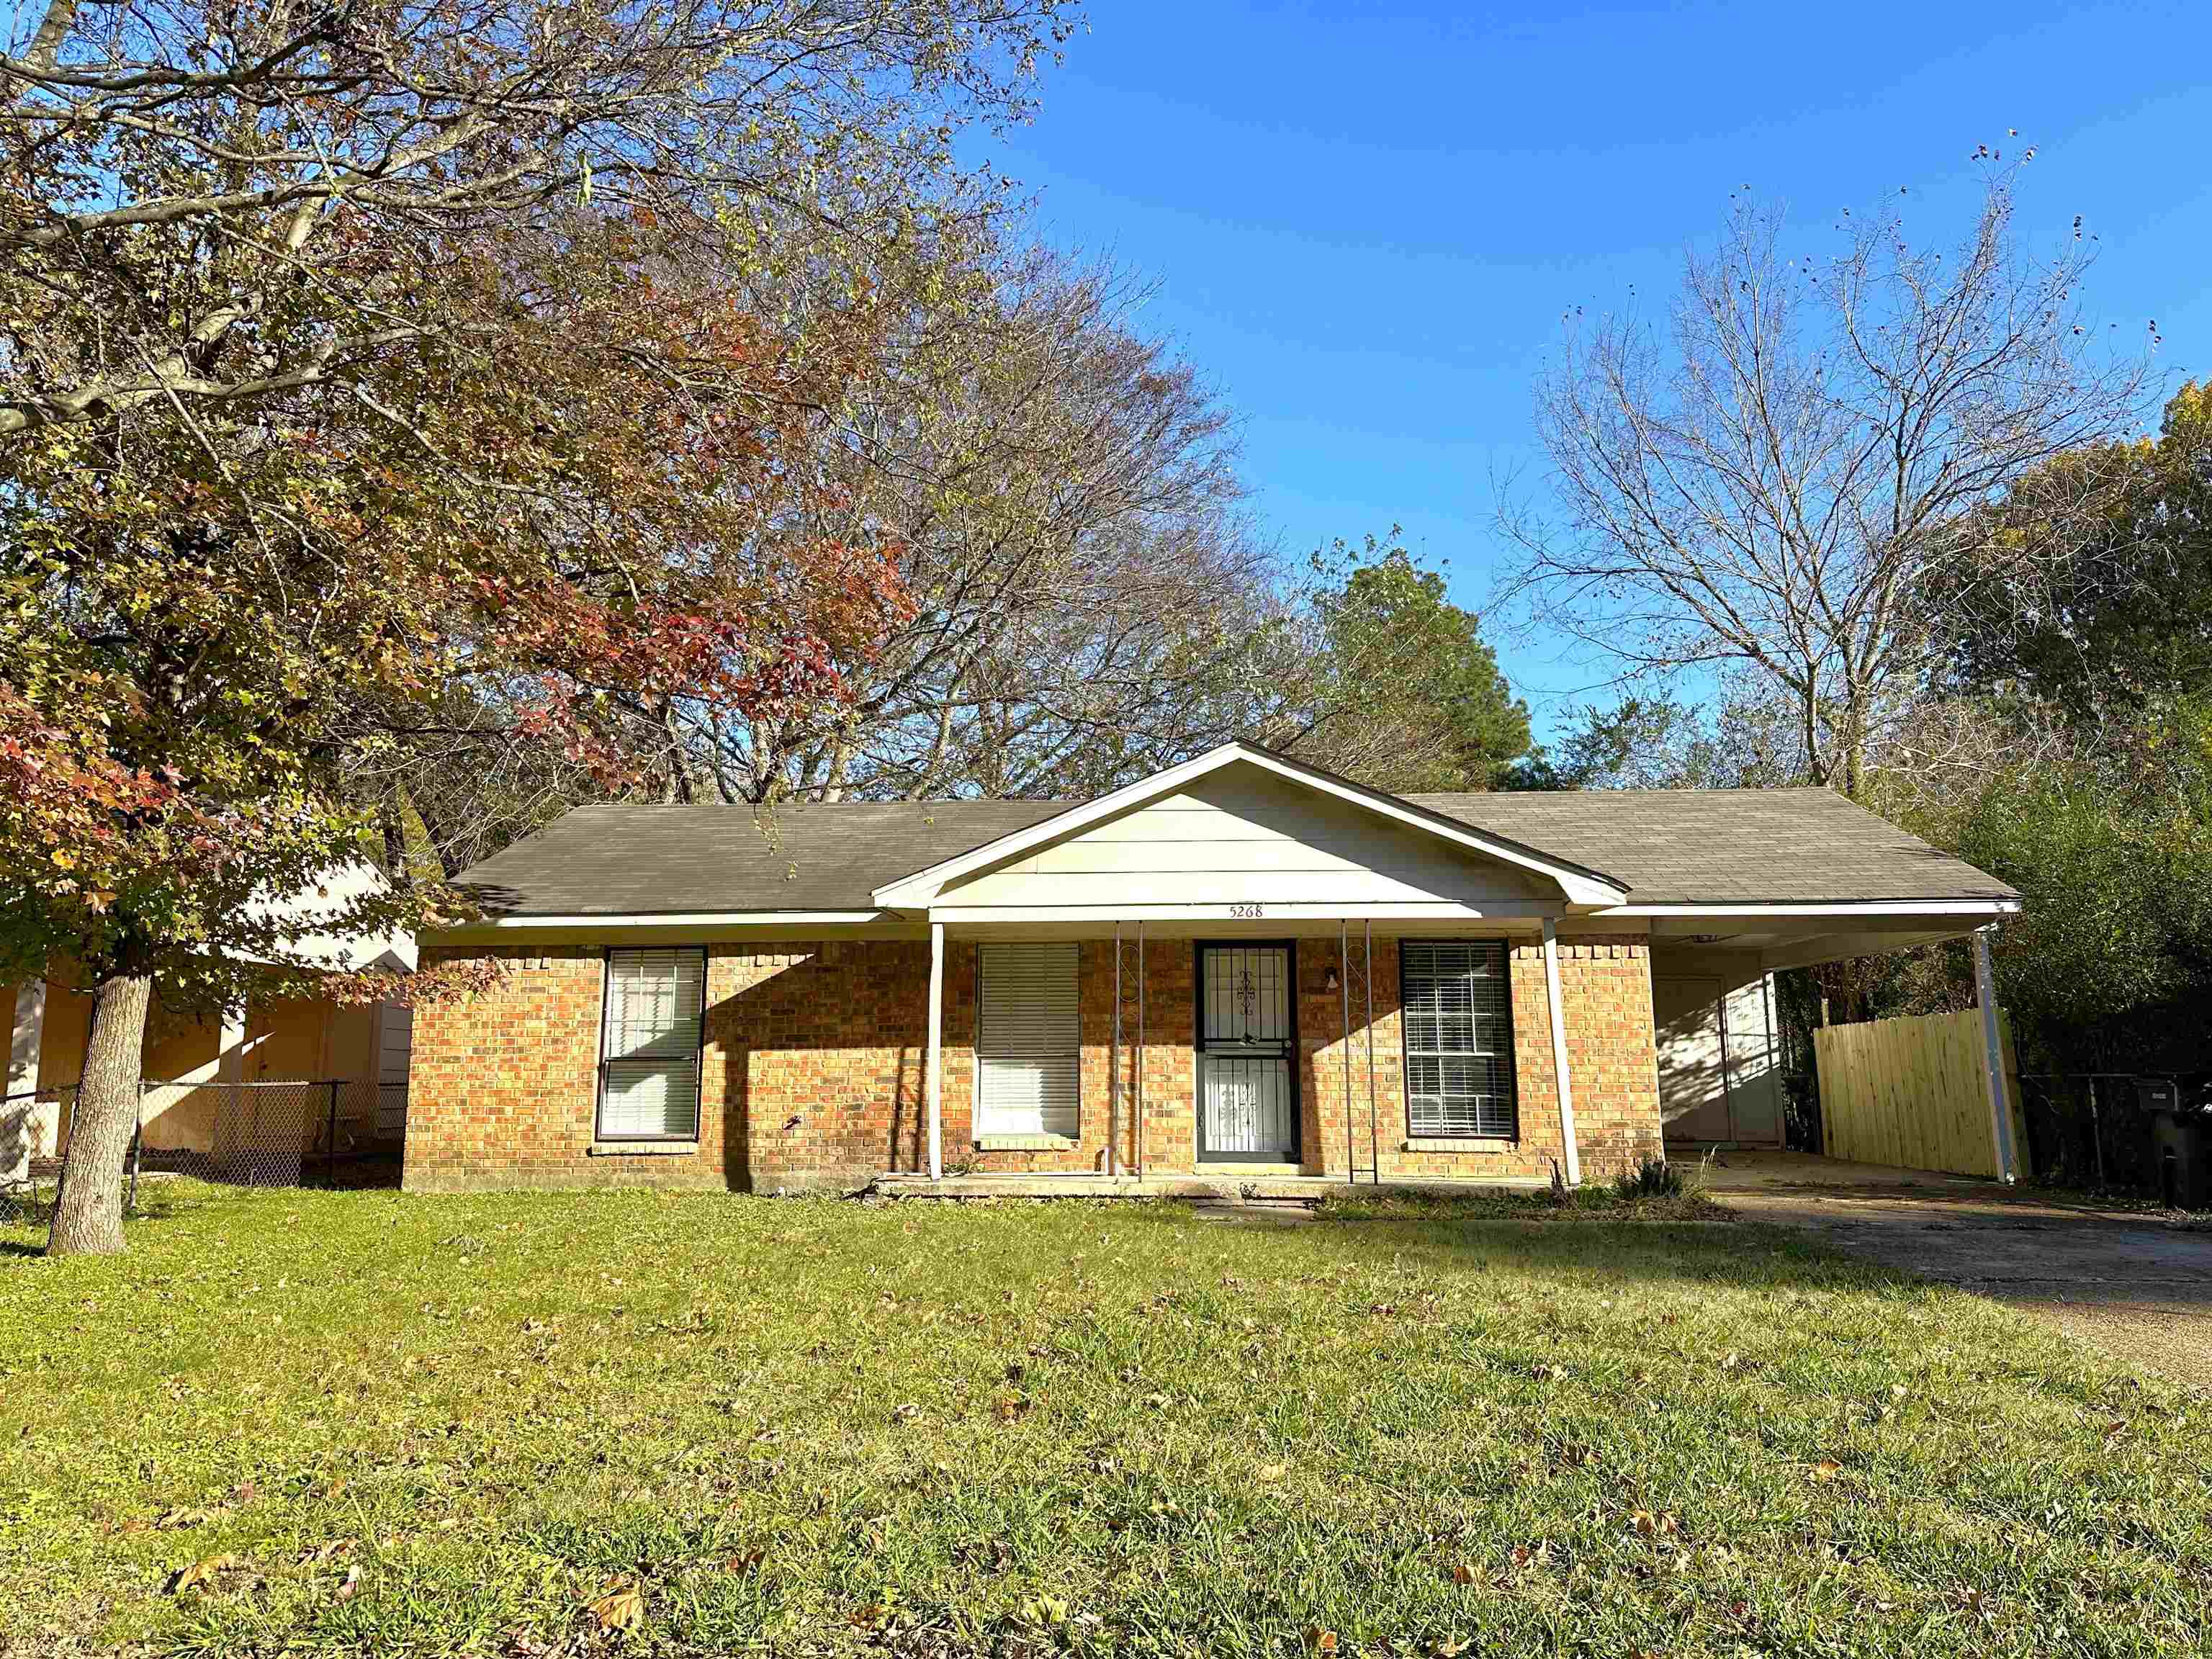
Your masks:
<svg viewBox="0 0 2212 1659"><path fill-rule="evenodd" d="M1911 188L1971 215L1975 144L2035 144L2022 228L2099 234L2090 305L2212 369L2212 7L1513 9L1095 0L1035 124L973 146L1040 230L1159 283L1298 555L1394 522L1480 604L1493 478L1542 484L1531 376L1571 305L1659 299L1752 186L1803 221ZM2020 128L2017 139L2006 128ZM1509 639L1551 717L1608 672Z"/></svg>

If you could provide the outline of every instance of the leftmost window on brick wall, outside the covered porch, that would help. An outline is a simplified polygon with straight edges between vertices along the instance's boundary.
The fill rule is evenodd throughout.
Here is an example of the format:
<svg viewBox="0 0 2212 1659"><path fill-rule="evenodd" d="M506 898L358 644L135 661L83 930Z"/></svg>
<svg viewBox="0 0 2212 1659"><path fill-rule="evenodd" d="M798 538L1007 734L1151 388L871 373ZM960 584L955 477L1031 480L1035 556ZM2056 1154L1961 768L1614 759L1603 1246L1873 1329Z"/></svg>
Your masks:
<svg viewBox="0 0 2212 1659"><path fill-rule="evenodd" d="M706 951L608 951L599 1139L699 1139Z"/></svg>

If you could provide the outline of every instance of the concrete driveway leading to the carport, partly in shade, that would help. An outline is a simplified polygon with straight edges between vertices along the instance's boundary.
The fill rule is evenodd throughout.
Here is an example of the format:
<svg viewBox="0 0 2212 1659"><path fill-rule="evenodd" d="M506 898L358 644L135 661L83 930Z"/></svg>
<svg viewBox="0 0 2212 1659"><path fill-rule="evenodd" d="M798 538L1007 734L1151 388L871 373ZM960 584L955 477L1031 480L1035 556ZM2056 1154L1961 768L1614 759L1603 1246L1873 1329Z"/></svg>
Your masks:
<svg viewBox="0 0 2212 1659"><path fill-rule="evenodd" d="M1714 1199L1818 1232L1891 1267L1995 1296L2212 1389L2212 1230L1991 1181L1796 1152L1723 1152Z"/></svg>

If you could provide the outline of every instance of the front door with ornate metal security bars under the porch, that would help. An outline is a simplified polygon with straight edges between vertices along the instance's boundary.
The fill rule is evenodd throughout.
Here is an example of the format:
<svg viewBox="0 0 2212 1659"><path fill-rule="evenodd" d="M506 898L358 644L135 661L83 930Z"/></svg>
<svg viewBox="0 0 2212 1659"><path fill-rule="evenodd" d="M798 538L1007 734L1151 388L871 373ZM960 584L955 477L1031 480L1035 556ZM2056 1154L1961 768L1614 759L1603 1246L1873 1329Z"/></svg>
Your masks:
<svg viewBox="0 0 2212 1659"><path fill-rule="evenodd" d="M1296 1164L1296 956L1283 945L1199 945L1199 1159Z"/></svg>

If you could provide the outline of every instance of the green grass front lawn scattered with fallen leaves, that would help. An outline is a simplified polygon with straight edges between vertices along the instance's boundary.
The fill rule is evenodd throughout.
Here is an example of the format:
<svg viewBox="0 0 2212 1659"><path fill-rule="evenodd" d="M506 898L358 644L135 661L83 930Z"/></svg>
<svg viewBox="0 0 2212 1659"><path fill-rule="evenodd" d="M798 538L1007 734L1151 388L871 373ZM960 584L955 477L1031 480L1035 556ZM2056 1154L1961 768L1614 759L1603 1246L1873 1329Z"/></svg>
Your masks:
<svg viewBox="0 0 2212 1659"><path fill-rule="evenodd" d="M2130 1655L2212 1621L2203 1402L1752 1225L155 1203L117 1261L0 1228L0 1650Z"/></svg>

